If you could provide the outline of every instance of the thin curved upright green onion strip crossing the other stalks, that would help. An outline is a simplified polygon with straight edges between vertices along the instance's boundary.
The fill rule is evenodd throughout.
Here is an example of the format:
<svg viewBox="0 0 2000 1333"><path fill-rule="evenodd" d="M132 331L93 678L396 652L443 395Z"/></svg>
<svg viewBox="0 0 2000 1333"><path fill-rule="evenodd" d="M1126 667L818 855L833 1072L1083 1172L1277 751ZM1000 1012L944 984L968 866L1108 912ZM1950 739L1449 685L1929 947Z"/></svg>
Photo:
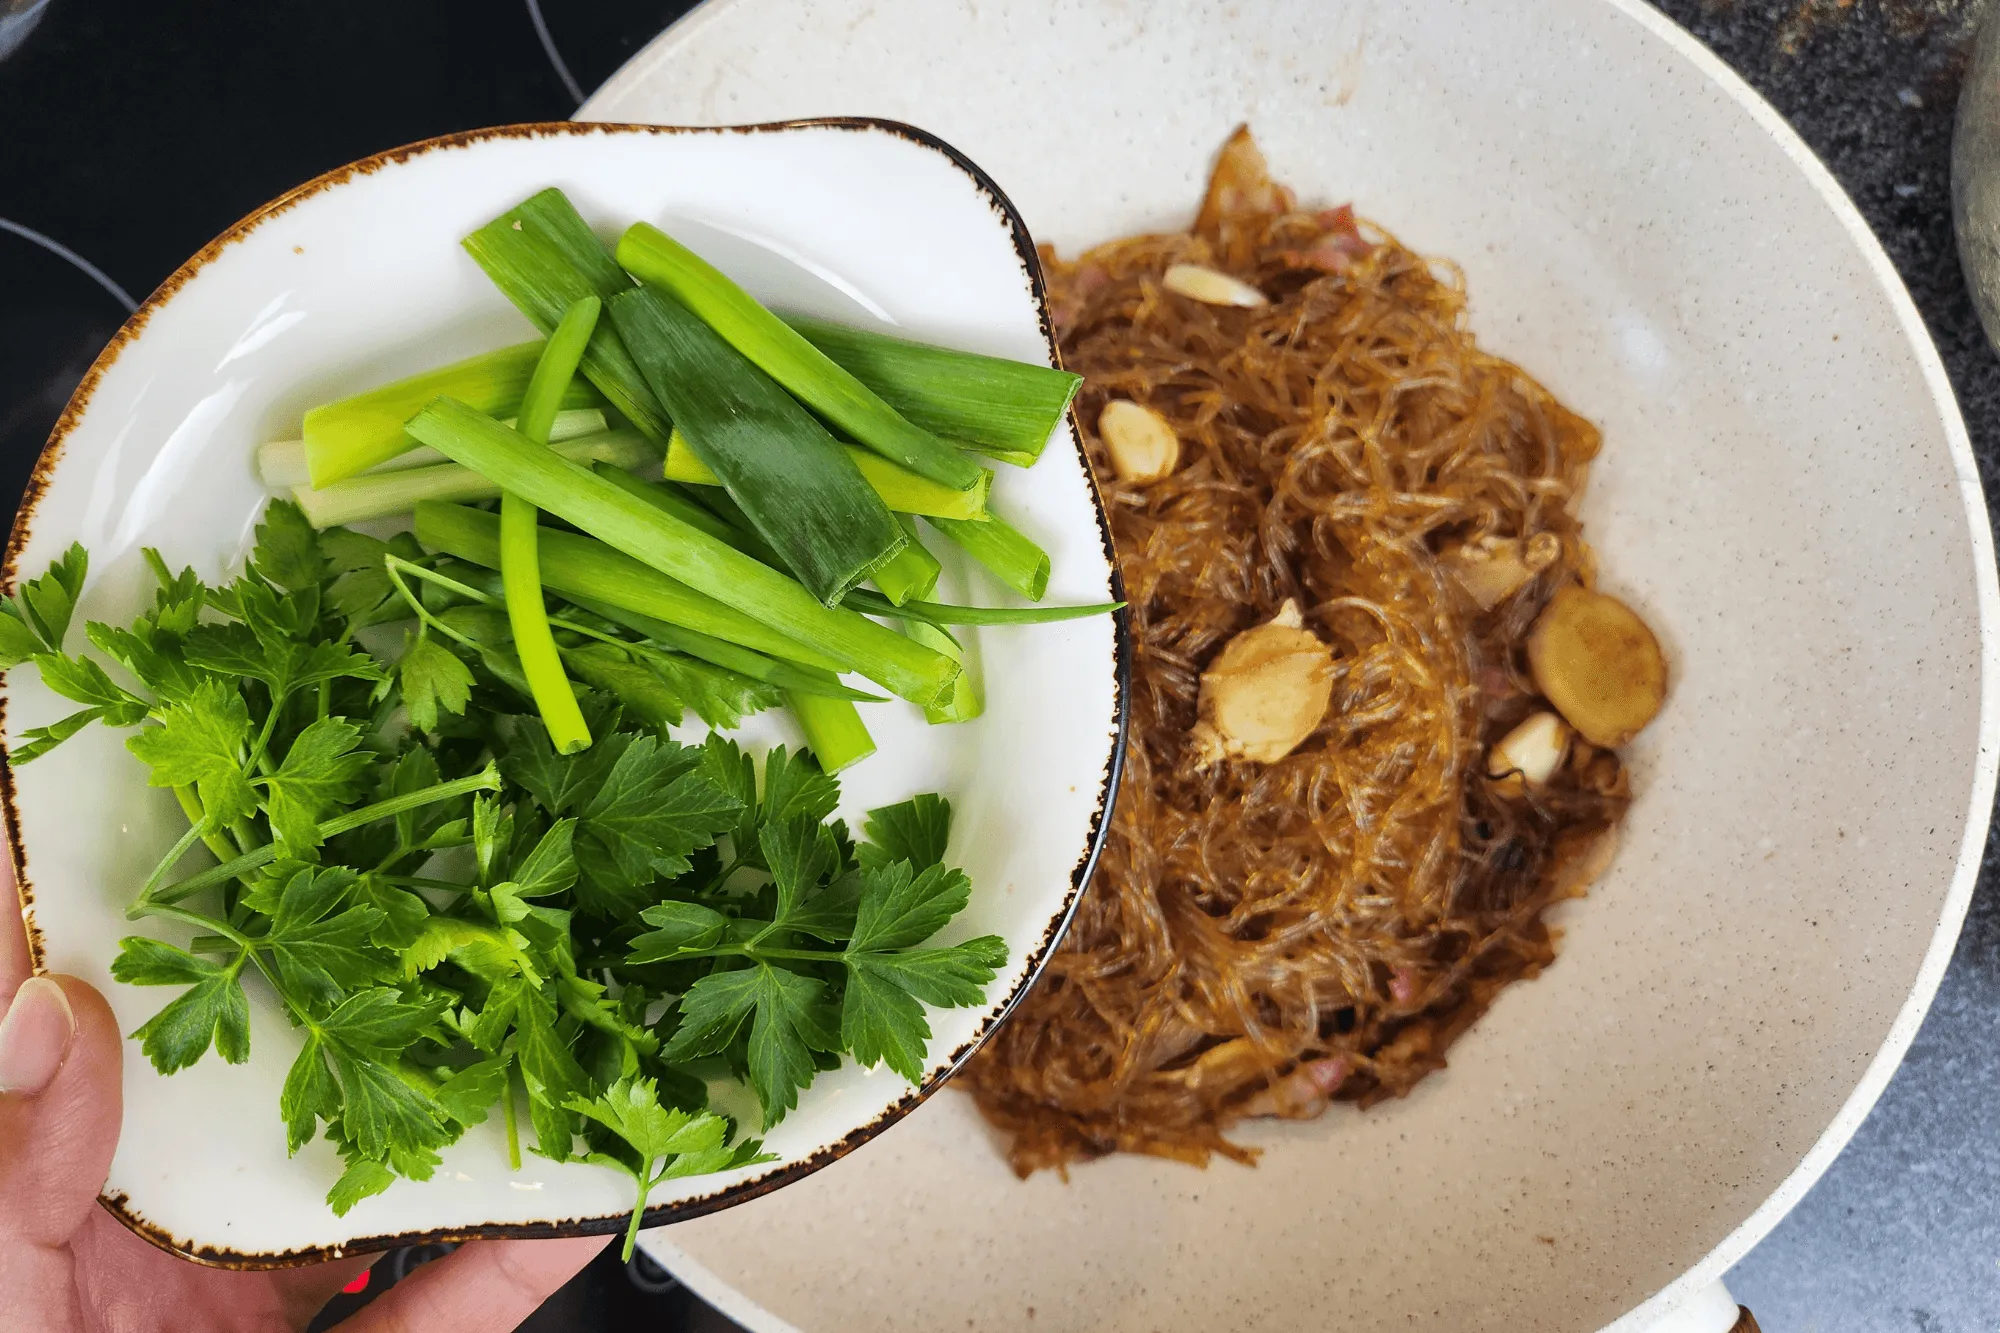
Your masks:
<svg viewBox="0 0 2000 1333"><path fill-rule="evenodd" d="M534 444L548 444L548 428L556 422L562 392L576 378L576 364L590 344L604 304L582 296L556 322L534 364L534 378L520 400L520 434ZM548 606L542 602L542 562L536 554L536 508L512 490L500 496L500 586L506 590L506 618L514 630L514 652L528 693L548 727L548 741L558 755L574 755L590 747L590 727L576 705L576 691L562 673L556 634L548 628Z"/></svg>

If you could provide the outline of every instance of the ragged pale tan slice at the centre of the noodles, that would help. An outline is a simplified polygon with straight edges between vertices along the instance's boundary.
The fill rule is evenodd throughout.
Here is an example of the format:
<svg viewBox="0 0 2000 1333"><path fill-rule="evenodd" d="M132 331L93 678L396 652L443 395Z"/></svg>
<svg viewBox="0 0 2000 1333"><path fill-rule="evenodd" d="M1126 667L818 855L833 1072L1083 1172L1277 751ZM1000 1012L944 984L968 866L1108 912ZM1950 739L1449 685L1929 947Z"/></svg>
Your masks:
<svg viewBox="0 0 2000 1333"><path fill-rule="evenodd" d="M1332 689L1332 648L1304 628L1298 604L1286 600L1270 622L1230 638L1202 673L1200 721L1190 735L1194 763L1284 759L1326 717Z"/></svg>

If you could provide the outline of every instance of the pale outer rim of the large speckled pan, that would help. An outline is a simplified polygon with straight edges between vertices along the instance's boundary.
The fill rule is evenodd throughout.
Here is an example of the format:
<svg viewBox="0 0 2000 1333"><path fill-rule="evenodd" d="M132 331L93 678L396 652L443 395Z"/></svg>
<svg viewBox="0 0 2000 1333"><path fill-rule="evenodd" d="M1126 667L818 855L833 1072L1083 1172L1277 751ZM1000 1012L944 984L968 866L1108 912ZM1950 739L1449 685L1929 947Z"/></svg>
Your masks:
<svg viewBox="0 0 2000 1333"><path fill-rule="evenodd" d="M618 70L614 70L612 76L584 100L584 104L576 110L576 118L586 120L594 114L596 106L630 96L632 90L644 82L664 76L672 62L672 52L666 50L668 44L694 38L700 28L720 18L724 12L744 8L752 0L704 0L698 4L674 24L662 28L646 46L636 50L630 60L618 66ZM1800 1199L1804 1199L1822 1175L1826 1175L1826 1169L1832 1167L1834 1159L1862 1127L1876 1101L1880 1101L1882 1093L1888 1089L1888 1083L1902 1065L1902 1059L1908 1053L1910 1043L1916 1039L1924 1017L1930 1013L1938 985L1944 981L1944 973L1952 961L1952 951L1964 927L1966 911L1972 905L1972 891L1978 885L1988 827L1994 821L1994 795L1996 787L2000 787L2000 572L1996 572L1994 564L1994 512L1988 510L1986 504L1986 492L1980 484L1978 464L1972 456L1972 438L1958 408L1958 396L1952 390L1944 360L1938 354L1938 346L1932 340L1928 326L1924 324L1924 316L1916 308L1916 300L1910 296L1902 274L1888 258L1888 250L1884 250L1882 240L1874 234L1874 228L1868 226L1868 220L1862 218L1860 208L1834 178L1832 170L1812 150L1812 146L1798 134L1798 130L1794 130L1792 124L1756 88L1752 88L1742 74L1704 46L1692 32L1644 0L1580 2L1598 4L1614 16L1636 24L1646 36L1662 44L1664 54L1678 56L1682 62L1692 66L1698 76L1706 78L1706 82L1732 106L1748 114L1750 124L1762 130L1764 136L1778 146L1778 150L1804 176L1814 194L1820 196L1820 202L1848 234L1848 240L1854 244L1856 256L1862 260L1868 276L1888 300L1896 328L1902 334L1902 342L1912 354L1930 396L1930 408L1944 430L1944 444L1950 454L1954 480L1958 482L1958 498L1972 546L1970 572L1976 586L1980 644L1978 749L1972 763L1964 835L1960 839L1958 859L1952 867L1950 881L1944 885L1944 893L1938 899L1938 925L1934 927L1930 943L1924 949L1924 957L1910 983L1910 991L1890 1021L1888 1031L1882 1037L1882 1045L1876 1047L1868 1065L1856 1079L1854 1089L1840 1103L1840 1109L1826 1123L1826 1129L1814 1139L1812 1147L1808 1147L1800 1157L1798 1165L1792 1167L1776 1189L1772 1189L1772 1193L1766 1195L1748 1217L1736 1223L1736 1227L1730 1229L1730 1233L1724 1235L1702 1259L1602 1329L1602 1333L1642 1333L1642 1329L1652 1327L1668 1313L1686 1305L1700 1289L1718 1283L1722 1275L1734 1267L1738 1259L1750 1253L1758 1241L1770 1235L1784 1215L1790 1213ZM642 1243L646 1241L652 1241L654 1245L670 1245L654 1237L642 1237ZM764 1311L728 1283L716 1279L700 1263L696 1263L692 1255L680 1253L678 1247L674 1253L688 1269L706 1279L704 1285L696 1287L702 1299L718 1303L730 1313L730 1317L746 1321L752 1329L760 1329L764 1333L794 1333L792 1325ZM720 1293L726 1293L724 1299L718 1299ZM750 1317L752 1313L754 1317Z"/></svg>

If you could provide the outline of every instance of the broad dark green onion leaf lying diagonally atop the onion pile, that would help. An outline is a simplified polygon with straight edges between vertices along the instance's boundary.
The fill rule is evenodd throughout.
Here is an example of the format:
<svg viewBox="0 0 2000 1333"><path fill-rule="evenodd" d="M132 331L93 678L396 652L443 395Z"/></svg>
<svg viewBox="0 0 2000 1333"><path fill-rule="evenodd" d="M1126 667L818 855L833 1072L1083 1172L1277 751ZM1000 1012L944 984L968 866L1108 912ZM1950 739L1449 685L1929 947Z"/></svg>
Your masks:
<svg viewBox="0 0 2000 1333"><path fill-rule="evenodd" d="M654 396L784 566L834 606L908 540L826 426L672 296L634 288L612 322Z"/></svg>

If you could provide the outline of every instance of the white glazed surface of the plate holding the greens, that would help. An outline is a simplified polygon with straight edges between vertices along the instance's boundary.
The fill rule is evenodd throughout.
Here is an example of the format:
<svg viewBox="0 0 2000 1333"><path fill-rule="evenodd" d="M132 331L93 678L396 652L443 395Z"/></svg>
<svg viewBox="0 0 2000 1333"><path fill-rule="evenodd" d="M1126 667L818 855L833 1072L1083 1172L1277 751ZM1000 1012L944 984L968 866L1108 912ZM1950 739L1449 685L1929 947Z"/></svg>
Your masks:
<svg viewBox="0 0 2000 1333"><path fill-rule="evenodd" d="M142 546L210 578L236 568L264 498L254 444L296 434L314 402L534 334L458 238L552 184L606 234L634 218L672 226L774 304L1002 356L1050 356L1038 270L1006 200L908 128L556 124L452 136L312 182L190 260L78 390L16 524L12 566L40 570L82 540L92 582L78 626L124 624L150 600ZM1008 472L996 492L1048 546L1050 596L1106 600L1102 514L1068 426L1032 472ZM944 592L970 592L964 574L948 566ZM990 991L998 1011L1046 955L1096 849L1118 761L1122 634L1100 616L988 630L974 644L986 717L926 727L906 705L870 707L880 755L842 777L842 815L852 821L916 791L952 799L948 855L976 885L952 931L1008 941L1008 969ZM34 673L6 681L8 739L68 711ZM798 745L788 727L762 715L742 739ZM120 937L156 929L134 927L122 909L186 827L174 799L148 789L122 735L102 729L10 777L8 823L38 961L98 983L132 1031L164 997L106 973ZM174 927L158 933L186 943ZM448 1149L432 1181L398 1183L334 1217L324 1203L340 1175L332 1147L284 1153L278 1089L298 1035L274 997L250 991L248 1065L208 1057L162 1079L136 1047L126 1055L126 1123L106 1197L152 1239L218 1263L274 1263L418 1235L624 1225L630 1193L612 1171L536 1157L508 1171L498 1117ZM932 1015L930 1083L994 1011ZM888 1071L822 1075L766 1137L776 1165L664 1187L658 1217L796 1179L914 1099Z"/></svg>

